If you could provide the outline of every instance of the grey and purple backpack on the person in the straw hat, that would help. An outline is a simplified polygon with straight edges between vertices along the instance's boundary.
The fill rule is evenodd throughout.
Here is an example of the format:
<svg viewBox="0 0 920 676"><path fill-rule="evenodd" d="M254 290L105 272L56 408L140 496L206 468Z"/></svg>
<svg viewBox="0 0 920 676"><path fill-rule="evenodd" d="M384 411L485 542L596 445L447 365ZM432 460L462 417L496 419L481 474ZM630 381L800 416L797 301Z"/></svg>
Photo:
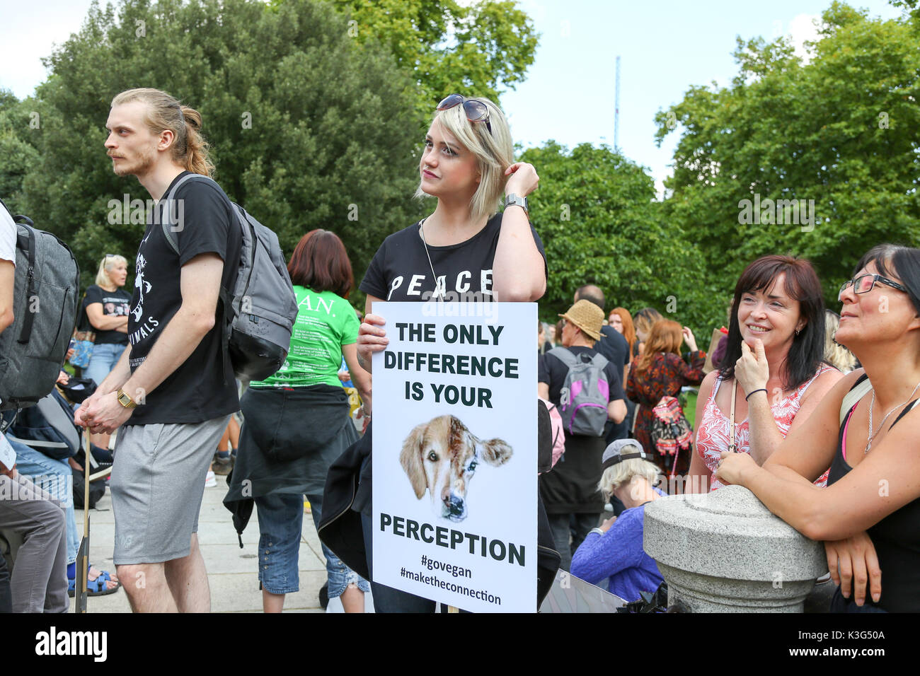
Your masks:
<svg viewBox="0 0 920 676"><path fill-rule="evenodd" d="M546 354L569 367L558 406L563 427L569 434L602 436L610 396L610 384L604 373L607 358L598 353L590 361L584 361L582 355L576 356L566 348L553 348Z"/></svg>

